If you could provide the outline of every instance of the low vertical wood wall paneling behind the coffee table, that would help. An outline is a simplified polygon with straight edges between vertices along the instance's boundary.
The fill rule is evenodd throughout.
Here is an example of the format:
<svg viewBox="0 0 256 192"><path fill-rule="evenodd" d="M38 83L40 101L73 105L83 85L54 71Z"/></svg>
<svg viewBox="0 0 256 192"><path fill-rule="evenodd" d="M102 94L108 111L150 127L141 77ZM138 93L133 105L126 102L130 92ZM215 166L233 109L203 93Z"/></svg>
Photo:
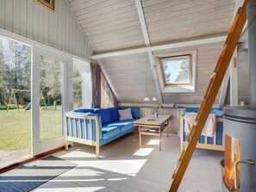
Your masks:
<svg viewBox="0 0 256 192"><path fill-rule="evenodd" d="M140 117L147 115L153 115L153 108L140 108ZM172 115L169 121L168 127L165 129L164 133L177 134L179 130L179 117L184 113L184 108L160 108L159 114L161 115Z"/></svg>

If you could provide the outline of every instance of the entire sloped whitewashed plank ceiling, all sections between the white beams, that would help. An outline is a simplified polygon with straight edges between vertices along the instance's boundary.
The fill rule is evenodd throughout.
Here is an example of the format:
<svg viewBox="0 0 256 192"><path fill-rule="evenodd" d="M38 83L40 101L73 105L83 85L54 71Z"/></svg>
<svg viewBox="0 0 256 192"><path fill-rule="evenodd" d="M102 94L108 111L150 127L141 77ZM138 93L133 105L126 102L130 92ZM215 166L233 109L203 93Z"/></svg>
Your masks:
<svg viewBox="0 0 256 192"><path fill-rule="evenodd" d="M136 0L68 0L95 54L146 46ZM202 39L227 34L234 15L235 0L140 0L150 45ZM165 103L200 103L209 69L215 65L222 43L192 46L198 49L196 93L162 94ZM147 45L148 46L148 45ZM182 48L183 51L186 48ZM169 50L177 53L179 49ZM165 53L168 52L164 51ZM156 53L153 53L156 54ZM206 59L201 59L205 57ZM154 55L153 55L154 56ZM146 91L147 53L100 59L105 76L119 102L142 102ZM149 64L148 64L149 66ZM212 67L211 67L212 66ZM201 74L202 73L202 74ZM202 77L201 77L202 76ZM148 73L148 92L155 93L153 73ZM200 90L200 91L199 91ZM202 91L201 91L202 90ZM198 92L199 91L199 92ZM152 94L155 95L155 94ZM201 96L202 95L202 96ZM187 101L187 98L191 98Z"/></svg>

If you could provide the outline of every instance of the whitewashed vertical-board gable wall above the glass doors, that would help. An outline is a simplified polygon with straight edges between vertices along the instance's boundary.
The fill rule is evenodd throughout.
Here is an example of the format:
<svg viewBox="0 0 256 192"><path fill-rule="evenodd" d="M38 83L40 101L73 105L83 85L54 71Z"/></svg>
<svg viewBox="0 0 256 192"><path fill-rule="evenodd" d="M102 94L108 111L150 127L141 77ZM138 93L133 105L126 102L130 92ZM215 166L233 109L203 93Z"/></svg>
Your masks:
<svg viewBox="0 0 256 192"><path fill-rule="evenodd" d="M34 0L0 0L0 28L91 59L91 48L65 0L55 0L54 12Z"/></svg>

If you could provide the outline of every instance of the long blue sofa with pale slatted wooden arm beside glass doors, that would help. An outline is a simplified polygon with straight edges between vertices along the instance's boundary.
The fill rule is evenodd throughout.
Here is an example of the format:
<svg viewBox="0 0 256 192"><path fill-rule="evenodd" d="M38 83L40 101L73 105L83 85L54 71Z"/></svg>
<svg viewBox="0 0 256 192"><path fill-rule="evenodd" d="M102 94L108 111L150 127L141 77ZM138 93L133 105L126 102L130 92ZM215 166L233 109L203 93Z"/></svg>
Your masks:
<svg viewBox="0 0 256 192"><path fill-rule="evenodd" d="M119 121L118 109L125 108L78 108L66 113L66 150L68 141L99 147L137 127L133 121L140 119L140 108L131 108L133 120Z"/></svg>

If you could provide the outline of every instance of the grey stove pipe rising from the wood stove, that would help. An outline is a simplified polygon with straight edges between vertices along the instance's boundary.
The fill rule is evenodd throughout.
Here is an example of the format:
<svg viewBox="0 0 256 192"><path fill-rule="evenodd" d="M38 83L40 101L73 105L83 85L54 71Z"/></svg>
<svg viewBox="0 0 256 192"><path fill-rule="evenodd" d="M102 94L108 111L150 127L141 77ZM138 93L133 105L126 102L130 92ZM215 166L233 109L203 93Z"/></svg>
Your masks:
<svg viewBox="0 0 256 192"><path fill-rule="evenodd" d="M256 0L247 5L250 107L256 109Z"/></svg>

